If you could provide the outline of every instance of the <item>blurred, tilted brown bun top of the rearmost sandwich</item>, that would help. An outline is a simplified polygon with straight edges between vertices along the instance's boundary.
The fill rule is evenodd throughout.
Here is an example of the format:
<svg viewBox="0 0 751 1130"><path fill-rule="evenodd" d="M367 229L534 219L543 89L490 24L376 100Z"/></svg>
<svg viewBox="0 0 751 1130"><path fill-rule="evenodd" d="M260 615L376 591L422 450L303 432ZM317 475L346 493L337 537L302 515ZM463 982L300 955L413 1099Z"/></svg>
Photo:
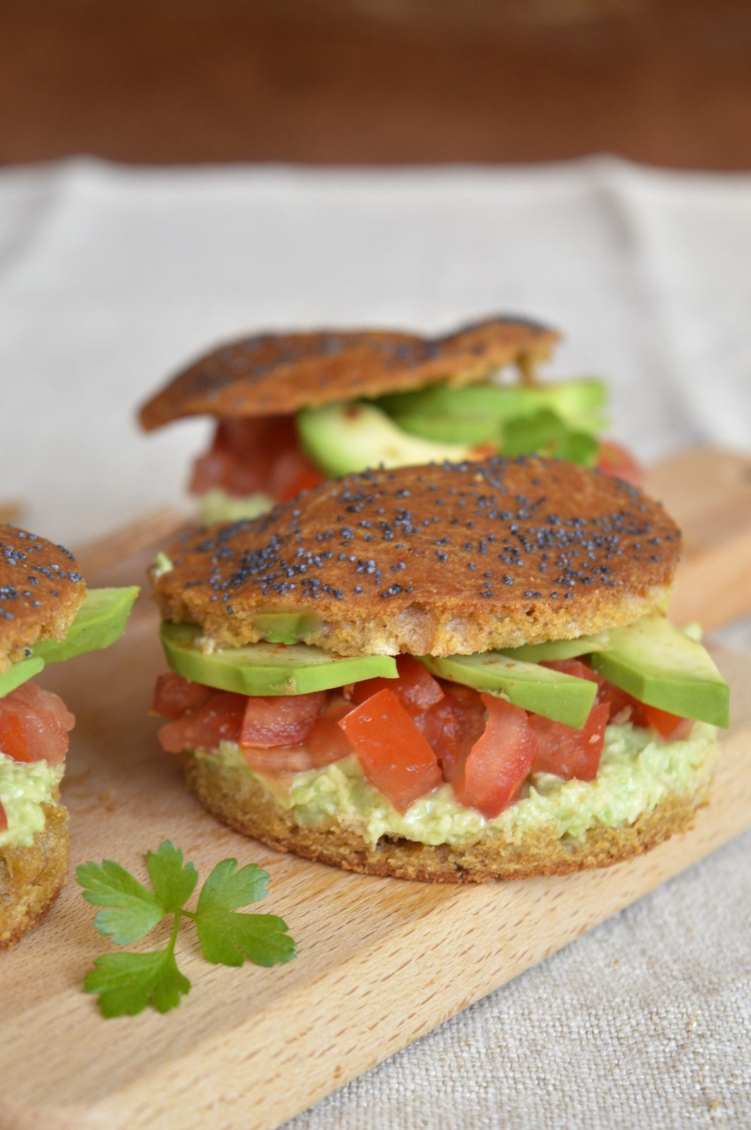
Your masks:
<svg viewBox="0 0 751 1130"><path fill-rule="evenodd" d="M510 362L544 358L554 330L490 318L440 338L391 331L262 333L195 360L143 405L150 432L183 416L289 415L438 381L465 384Z"/></svg>

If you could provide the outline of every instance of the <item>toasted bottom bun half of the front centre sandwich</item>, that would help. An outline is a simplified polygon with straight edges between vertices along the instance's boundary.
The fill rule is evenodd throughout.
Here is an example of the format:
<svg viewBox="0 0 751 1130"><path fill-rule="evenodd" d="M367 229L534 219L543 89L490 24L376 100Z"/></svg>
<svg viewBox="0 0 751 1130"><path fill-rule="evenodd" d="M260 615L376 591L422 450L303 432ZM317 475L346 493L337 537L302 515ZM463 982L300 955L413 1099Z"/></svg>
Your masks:
<svg viewBox="0 0 751 1130"><path fill-rule="evenodd" d="M559 838L540 828L522 844L508 844L486 833L472 844L417 843L383 836L375 847L337 822L303 826L281 809L252 776L226 770L221 762L182 756L187 786L217 819L253 836L276 851L289 851L348 871L388 875L425 883L486 883L490 879L527 879L610 867L640 855L693 824L696 809L709 791L702 777L690 793L671 793L634 824L619 828L591 828L584 841Z"/></svg>

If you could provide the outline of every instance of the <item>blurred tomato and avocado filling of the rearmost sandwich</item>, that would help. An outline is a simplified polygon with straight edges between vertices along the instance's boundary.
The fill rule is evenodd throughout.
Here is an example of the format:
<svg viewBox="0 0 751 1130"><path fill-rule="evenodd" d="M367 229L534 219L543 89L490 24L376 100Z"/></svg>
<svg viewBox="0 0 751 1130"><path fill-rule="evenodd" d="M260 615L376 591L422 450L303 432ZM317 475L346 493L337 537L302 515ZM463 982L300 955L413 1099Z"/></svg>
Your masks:
<svg viewBox="0 0 751 1130"><path fill-rule="evenodd" d="M461 462L499 452L567 459L638 486L643 473L632 457L601 435L606 395L604 383L591 379L446 383L294 416L219 419L190 490L207 522L230 522L366 467Z"/></svg>

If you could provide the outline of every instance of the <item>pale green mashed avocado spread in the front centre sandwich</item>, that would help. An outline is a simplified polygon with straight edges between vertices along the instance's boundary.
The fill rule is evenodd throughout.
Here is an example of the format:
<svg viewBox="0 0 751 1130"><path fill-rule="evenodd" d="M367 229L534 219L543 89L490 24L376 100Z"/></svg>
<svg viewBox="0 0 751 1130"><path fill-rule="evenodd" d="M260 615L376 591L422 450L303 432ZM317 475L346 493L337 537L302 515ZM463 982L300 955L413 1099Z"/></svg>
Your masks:
<svg viewBox="0 0 751 1130"><path fill-rule="evenodd" d="M400 836L425 844L466 844L487 831L507 843L551 827L559 838L582 840L594 825L623 827L652 811L666 796L695 793L706 785L719 755L715 728L699 722L681 741L665 741L650 730L609 725L594 781L564 781L538 773L521 797L495 819L460 805L448 784L416 800L407 812L363 775L352 755L325 768L278 780L252 773L242 750L222 742L213 753L227 768L255 777L297 824L328 824L335 819L357 831L372 845L381 836Z"/></svg>

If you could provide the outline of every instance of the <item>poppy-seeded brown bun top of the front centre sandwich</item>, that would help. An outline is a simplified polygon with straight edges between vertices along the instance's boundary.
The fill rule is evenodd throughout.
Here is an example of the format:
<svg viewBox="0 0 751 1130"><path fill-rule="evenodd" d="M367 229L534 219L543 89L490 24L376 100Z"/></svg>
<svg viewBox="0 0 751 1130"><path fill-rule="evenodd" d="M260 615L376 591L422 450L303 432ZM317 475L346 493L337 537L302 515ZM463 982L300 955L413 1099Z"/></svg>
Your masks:
<svg viewBox="0 0 751 1130"><path fill-rule="evenodd" d="M544 459L365 471L199 530L154 577L165 617L224 646L305 611L344 655L469 654L629 624L665 599L680 531L635 487Z"/></svg>

